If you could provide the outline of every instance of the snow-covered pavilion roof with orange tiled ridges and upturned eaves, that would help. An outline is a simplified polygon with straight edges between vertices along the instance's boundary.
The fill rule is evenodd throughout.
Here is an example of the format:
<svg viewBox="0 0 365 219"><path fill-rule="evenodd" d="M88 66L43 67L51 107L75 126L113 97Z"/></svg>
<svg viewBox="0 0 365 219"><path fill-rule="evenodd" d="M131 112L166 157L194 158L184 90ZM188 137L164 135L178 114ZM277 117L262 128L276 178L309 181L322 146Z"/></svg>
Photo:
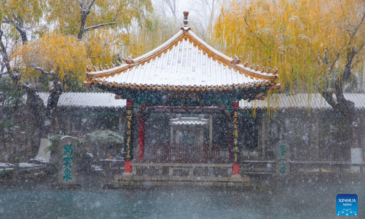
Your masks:
<svg viewBox="0 0 365 219"><path fill-rule="evenodd" d="M251 69L215 50L185 25L161 46L127 64L93 71L88 67L87 86L174 91L215 91L271 86L278 88L275 73ZM119 64L119 63L118 63ZM96 70L96 68L94 68Z"/></svg>

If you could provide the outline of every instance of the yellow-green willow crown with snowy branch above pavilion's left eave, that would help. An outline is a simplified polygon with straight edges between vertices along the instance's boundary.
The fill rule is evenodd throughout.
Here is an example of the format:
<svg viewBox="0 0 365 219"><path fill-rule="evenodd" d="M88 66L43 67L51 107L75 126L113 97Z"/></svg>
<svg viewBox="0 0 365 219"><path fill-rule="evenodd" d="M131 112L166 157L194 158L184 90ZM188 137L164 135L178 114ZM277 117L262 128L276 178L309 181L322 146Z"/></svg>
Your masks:
<svg viewBox="0 0 365 219"><path fill-rule="evenodd" d="M49 24L85 41L85 55L96 65L110 64L129 45L131 28L141 27L146 12L152 11L150 0L49 1Z"/></svg>

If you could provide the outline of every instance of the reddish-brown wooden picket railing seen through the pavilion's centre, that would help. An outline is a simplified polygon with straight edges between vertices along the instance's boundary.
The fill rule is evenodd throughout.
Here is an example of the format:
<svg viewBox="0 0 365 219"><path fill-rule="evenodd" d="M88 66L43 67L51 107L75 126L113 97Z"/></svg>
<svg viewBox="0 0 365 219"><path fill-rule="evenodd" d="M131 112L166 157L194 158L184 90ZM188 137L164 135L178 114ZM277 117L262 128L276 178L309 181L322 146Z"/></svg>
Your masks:
<svg viewBox="0 0 365 219"><path fill-rule="evenodd" d="M220 147L208 143L156 143L153 146L154 160L172 163L214 162L220 159Z"/></svg>

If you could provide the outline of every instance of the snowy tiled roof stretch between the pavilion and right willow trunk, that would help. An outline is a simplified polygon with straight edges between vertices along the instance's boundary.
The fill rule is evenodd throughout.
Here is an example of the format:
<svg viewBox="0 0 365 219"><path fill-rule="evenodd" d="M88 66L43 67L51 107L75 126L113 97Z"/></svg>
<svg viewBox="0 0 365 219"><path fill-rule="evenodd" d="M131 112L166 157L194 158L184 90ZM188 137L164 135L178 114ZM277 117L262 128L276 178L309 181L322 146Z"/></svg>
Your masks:
<svg viewBox="0 0 365 219"><path fill-rule="evenodd" d="M299 93L295 95L273 94L265 100L239 101L240 108L311 108L317 110L331 110L332 107L319 93Z"/></svg>

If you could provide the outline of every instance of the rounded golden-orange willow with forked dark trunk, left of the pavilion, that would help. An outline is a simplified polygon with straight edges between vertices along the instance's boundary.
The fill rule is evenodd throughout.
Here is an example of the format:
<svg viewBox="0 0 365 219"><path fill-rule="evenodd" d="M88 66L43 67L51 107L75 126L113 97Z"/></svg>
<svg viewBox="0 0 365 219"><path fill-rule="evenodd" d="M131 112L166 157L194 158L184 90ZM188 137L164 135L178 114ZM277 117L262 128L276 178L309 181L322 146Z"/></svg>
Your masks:
<svg viewBox="0 0 365 219"><path fill-rule="evenodd" d="M47 106L35 92L27 92L27 105L34 115L41 136L44 136L49 130L48 125L52 124L64 81L68 78L81 80L84 77L84 66L88 63L84 43L72 36L45 34L42 38L19 46L18 51L14 52L13 62L16 62L20 71L25 72L22 81L43 74L53 83Z"/></svg>

